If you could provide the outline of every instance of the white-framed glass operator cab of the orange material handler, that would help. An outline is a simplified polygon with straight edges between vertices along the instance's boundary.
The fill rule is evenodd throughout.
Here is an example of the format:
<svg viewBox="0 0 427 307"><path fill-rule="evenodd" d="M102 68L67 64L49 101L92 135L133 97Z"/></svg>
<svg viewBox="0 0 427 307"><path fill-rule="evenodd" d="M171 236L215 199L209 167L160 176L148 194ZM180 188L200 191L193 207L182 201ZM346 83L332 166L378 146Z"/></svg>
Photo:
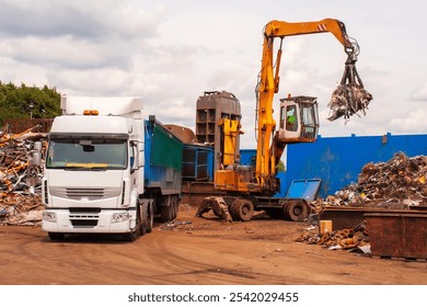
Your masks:
<svg viewBox="0 0 427 307"><path fill-rule="evenodd" d="M314 141L319 133L318 100L312 96L280 99L278 140L284 143Z"/></svg>

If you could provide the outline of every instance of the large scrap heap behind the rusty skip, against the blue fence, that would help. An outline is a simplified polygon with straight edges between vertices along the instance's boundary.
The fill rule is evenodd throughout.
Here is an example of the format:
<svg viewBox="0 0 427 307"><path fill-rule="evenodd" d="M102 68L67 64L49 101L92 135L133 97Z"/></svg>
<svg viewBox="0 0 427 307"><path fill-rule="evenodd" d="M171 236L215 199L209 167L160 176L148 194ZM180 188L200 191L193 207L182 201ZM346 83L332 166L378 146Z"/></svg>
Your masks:
<svg viewBox="0 0 427 307"><path fill-rule="evenodd" d="M386 162L367 163L357 183L319 200L324 206L374 206L407 209L427 206L427 156L397 152Z"/></svg>

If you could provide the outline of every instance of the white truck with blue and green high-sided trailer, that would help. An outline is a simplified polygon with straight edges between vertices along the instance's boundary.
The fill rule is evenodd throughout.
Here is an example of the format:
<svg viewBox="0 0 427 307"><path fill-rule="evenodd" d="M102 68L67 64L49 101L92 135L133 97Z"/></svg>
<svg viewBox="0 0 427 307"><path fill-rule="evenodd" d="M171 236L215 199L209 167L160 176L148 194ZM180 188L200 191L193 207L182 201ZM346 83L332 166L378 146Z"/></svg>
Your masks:
<svg viewBox="0 0 427 307"><path fill-rule="evenodd" d="M140 98L61 98L45 157L42 229L67 234L150 232L154 215L176 217L182 141L155 116L143 120Z"/></svg>

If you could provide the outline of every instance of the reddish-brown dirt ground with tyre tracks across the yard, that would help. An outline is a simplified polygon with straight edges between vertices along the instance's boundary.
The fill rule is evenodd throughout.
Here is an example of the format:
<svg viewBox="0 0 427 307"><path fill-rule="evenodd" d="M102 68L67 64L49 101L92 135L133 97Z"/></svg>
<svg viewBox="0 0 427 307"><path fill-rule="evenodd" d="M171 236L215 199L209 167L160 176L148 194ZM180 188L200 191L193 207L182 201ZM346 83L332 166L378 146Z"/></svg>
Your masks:
<svg viewBox="0 0 427 307"><path fill-rule="evenodd" d="M426 285L427 262L378 259L296 242L307 223L223 223L181 206L135 242L39 227L0 227L2 285Z"/></svg>

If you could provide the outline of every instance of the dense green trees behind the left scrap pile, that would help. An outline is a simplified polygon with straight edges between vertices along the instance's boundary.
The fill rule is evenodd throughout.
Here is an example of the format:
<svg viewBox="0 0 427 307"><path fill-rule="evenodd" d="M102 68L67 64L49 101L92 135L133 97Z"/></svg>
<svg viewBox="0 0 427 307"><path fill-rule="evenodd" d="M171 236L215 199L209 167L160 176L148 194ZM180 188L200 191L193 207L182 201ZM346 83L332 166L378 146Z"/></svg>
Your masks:
<svg viewBox="0 0 427 307"><path fill-rule="evenodd" d="M12 82L0 81L0 124L12 118L54 118L60 115L60 93L55 88L49 89L16 87Z"/></svg>

